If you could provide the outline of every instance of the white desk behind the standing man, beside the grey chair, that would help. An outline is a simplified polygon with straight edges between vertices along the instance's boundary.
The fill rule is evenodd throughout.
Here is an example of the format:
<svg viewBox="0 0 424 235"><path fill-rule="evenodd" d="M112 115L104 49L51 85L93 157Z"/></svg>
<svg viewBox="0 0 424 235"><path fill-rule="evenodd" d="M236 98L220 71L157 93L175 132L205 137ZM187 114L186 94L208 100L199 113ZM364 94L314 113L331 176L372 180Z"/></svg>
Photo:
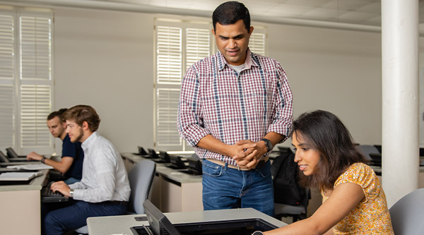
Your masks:
<svg viewBox="0 0 424 235"><path fill-rule="evenodd" d="M126 169L145 158L132 153L122 153ZM156 163L156 175L151 189L151 202L163 212L187 212L203 210L201 201L202 176L182 173Z"/></svg>

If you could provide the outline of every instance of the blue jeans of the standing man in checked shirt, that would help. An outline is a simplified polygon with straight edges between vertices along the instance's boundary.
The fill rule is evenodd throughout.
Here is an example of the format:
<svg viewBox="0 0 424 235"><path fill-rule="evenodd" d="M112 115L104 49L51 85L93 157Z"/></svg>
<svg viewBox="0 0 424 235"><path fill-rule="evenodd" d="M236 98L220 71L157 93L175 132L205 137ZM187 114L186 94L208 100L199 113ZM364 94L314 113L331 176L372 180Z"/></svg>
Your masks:
<svg viewBox="0 0 424 235"><path fill-rule="evenodd" d="M239 171L203 160L204 210L252 207L273 216L271 163L259 169Z"/></svg>

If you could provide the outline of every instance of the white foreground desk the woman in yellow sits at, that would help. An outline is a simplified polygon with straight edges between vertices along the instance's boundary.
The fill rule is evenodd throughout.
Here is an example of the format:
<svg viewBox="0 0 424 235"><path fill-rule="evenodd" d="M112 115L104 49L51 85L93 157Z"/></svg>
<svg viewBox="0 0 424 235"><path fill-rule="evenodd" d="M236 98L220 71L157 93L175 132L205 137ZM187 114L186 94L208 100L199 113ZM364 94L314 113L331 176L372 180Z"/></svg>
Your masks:
<svg viewBox="0 0 424 235"><path fill-rule="evenodd" d="M208 210L196 212L172 212L164 213L172 224L212 222L231 219L264 219L277 227L283 227L284 222L265 215L252 208ZM87 219L88 233L90 235L122 234L132 235L131 227L148 225L147 221L138 222L134 217L143 215L119 215L107 217L89 217Z"/></svg>

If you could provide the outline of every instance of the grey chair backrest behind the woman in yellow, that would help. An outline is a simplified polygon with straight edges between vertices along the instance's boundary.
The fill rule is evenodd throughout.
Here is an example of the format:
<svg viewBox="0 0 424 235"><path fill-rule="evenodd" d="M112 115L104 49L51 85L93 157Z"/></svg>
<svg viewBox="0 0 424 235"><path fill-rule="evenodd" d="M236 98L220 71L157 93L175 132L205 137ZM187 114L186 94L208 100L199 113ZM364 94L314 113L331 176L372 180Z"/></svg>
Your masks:
<svg viewBox="0 0 424 235"><path fill-rule="evenodd" d="M423 234L424 188L405 195L390 207L389 212L394 234Z"/></svg>

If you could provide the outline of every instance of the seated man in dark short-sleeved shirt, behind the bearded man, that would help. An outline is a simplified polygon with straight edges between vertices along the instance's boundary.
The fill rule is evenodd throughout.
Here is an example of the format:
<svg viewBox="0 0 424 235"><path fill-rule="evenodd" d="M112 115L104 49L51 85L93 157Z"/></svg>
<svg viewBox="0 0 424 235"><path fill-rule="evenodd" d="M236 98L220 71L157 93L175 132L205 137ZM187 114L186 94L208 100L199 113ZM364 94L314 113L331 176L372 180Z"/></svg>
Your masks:
<svg viewBox="0 0 424 235"><path fill-rule="evenodd" d="M49 127L50 133L63 141L61 161L57 162L52 159L47 159L36 152L30 152L30 154L27 155L27 159L38 160L52 166L54 169L64 174L66 179L65 183L71 184L81 181L84 152L81 148L81 143L72 143L68 134L65 132L66 122L62 119L62 114L66 112L66 110L67 109L60 109L47 116L47 126Z"/></svg>

